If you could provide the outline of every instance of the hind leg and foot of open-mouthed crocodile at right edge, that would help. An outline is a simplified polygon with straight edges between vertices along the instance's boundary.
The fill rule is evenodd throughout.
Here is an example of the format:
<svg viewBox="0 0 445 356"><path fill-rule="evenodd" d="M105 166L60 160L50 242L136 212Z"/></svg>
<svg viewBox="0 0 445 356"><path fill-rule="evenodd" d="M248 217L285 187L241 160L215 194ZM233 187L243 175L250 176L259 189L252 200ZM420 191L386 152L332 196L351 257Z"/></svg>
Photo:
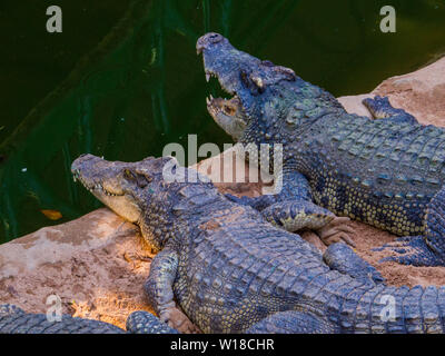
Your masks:
<svg viewBox="0 0 445 356"><path fill-rule="evenodd" d="M425 215L425 235L405 236L374 250L390 249L397 254L383 258L413 266L445 266L445 187L429 201Z"/></svg>

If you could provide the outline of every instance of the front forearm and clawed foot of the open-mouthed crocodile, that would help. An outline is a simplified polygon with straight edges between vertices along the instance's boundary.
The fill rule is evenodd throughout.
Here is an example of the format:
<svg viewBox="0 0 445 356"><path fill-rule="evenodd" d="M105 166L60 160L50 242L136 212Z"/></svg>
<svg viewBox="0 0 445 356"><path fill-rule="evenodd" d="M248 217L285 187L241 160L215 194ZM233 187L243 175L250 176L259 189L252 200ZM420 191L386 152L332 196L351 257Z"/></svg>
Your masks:
<svg viewBox="0 0 445 356"><path fill-rule="evenodd" d="M347 225L349 218L337 217L312 201L299 199L276 202L261 214L270 224L287 231L314 230L327 246L340 241L355 246L349 237L354 234Z"/></svg>

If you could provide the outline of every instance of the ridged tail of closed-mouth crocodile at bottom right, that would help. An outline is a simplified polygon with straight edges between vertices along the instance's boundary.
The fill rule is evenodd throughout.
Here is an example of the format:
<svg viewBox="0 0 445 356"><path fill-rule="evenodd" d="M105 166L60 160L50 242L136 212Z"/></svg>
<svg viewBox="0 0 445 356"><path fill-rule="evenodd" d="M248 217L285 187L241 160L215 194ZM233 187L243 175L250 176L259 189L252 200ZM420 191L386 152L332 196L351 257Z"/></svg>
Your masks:
<svg viewBox="0 0 445 356"><path fill-rule="evenodd" d="M397 288L354 280L330 291L326 314L338 333L445 334L445 286Z"/></svg>

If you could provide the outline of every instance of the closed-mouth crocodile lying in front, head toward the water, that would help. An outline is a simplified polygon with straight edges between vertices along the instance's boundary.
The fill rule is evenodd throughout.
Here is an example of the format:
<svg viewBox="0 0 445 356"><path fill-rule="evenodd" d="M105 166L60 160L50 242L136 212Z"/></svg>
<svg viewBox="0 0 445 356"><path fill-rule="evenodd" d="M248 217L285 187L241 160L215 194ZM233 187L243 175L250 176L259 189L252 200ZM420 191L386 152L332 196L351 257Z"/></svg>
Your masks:
<svg viewBox="0 0 445 356"><path fill-rule="evenodd" d="M179 332L445 330L445 287L386 286L348 245L322 255L172 157L121 162L87 154L71 171L157 251L145 295ZM305 219L305 206L289 209Z"/></svg>

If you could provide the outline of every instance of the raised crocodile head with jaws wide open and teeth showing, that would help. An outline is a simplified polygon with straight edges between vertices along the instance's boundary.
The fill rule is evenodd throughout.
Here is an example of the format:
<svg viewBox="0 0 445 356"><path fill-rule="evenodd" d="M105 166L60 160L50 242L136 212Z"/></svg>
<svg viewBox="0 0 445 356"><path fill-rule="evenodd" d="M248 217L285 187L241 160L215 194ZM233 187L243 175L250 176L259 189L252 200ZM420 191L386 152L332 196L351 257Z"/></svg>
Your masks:
<svg viewBox="0 0 445 356"><path fill-rule="evenodd" d="M218 33L198 39L206 79L216 77L230 99L207 98L215 121L236 141L270 141L283 137L283 127L294 129L319 117L324 108L339 107L334 97L286 67L275 66L237 50ZM264 136L264 137L263 137Z"/></svg>

